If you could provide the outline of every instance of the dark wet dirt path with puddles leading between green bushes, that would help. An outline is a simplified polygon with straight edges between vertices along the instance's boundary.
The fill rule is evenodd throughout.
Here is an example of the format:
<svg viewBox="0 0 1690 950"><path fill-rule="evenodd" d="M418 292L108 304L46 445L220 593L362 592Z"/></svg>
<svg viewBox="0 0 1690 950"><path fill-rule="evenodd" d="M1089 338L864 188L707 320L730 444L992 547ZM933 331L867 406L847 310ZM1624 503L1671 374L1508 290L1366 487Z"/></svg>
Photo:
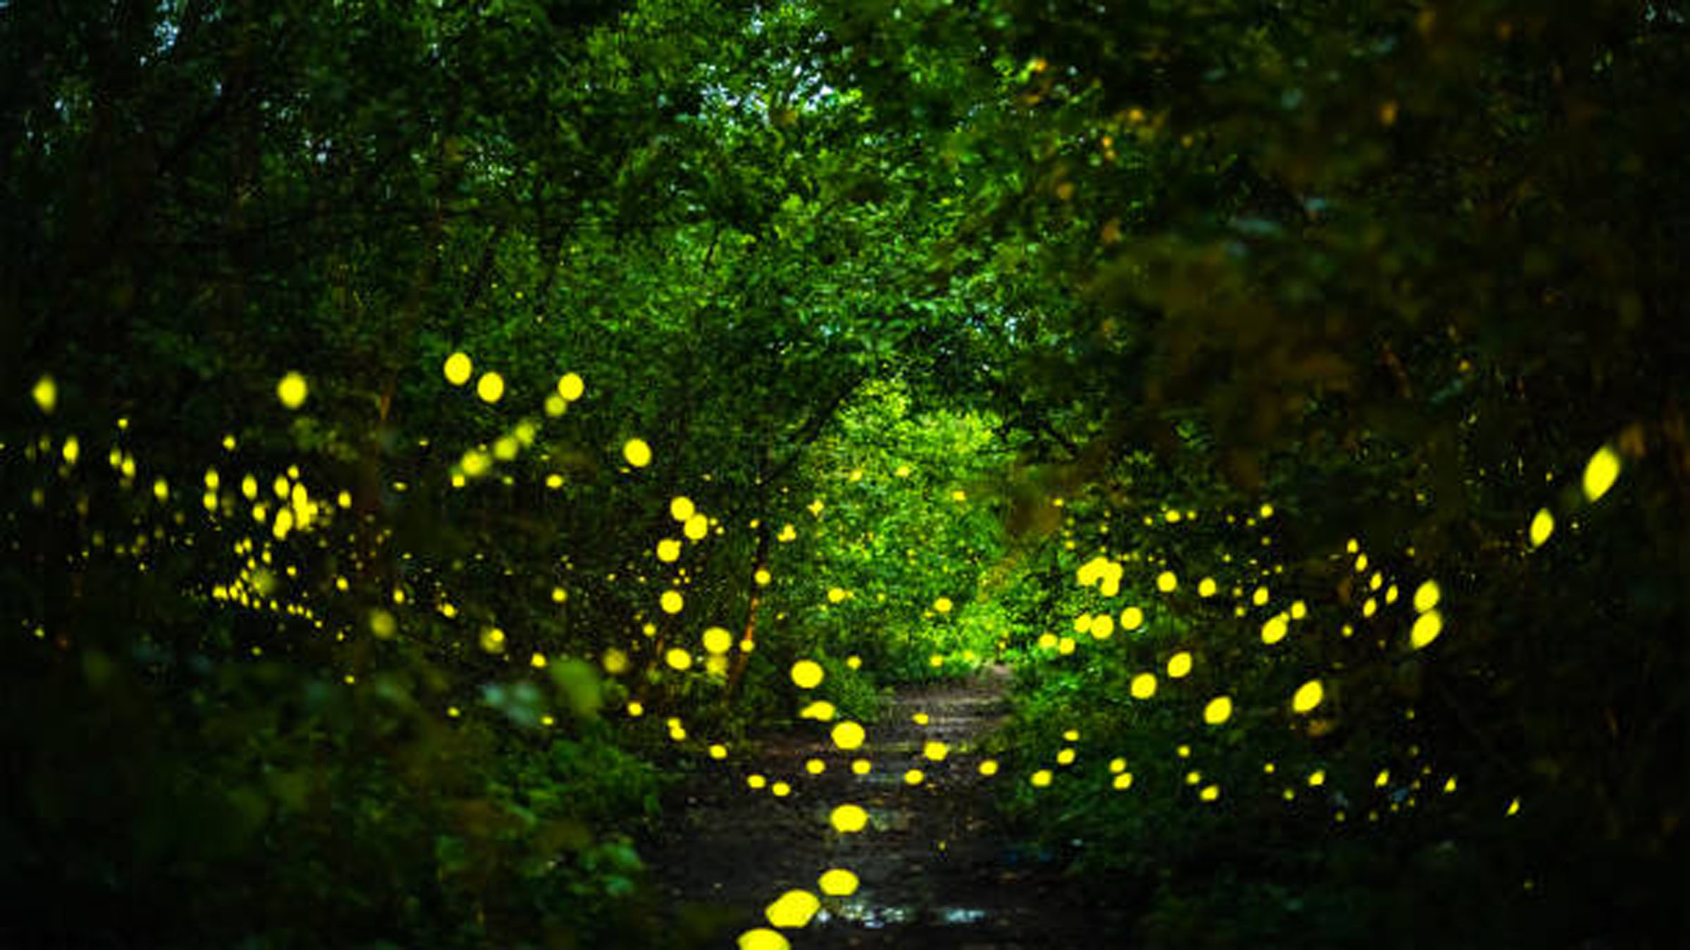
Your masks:
<svg viewBox="0 0 1690 950"><path fill-rule="evenodd" d="M739 776L760 773L788 781L776 798L750 791L744 778L722 781L705 771L666 803L674 818L647 850L659 898L676 915L679 945L732 947L752 926L769 926L764 908L789 889L816 893L831 867L855 872L848 898L825 898L823 909L798 931L784 931L794 950L855 947L938 947L1024 950L1102 947L1119 933L1129 908L1087 903L1073 881L1039 849L1014 835L994 808L994 783L979 773L977 747L1007 713L1009 671L909 688L882 705L869 740L855 752L828 744L826 730L766 735ZM913 717L928 713L928 723ZM921 757L923 744L945 742L943 762ZM808 759L826 761L820 776ZM867 757L874 771L850 773ZM921 769L921 784L904 773ZM835 805L869 811L862 833L837 833ZM649 845L651 847L651 845ZM695 943L696 942L696 943Z"/></svg>

